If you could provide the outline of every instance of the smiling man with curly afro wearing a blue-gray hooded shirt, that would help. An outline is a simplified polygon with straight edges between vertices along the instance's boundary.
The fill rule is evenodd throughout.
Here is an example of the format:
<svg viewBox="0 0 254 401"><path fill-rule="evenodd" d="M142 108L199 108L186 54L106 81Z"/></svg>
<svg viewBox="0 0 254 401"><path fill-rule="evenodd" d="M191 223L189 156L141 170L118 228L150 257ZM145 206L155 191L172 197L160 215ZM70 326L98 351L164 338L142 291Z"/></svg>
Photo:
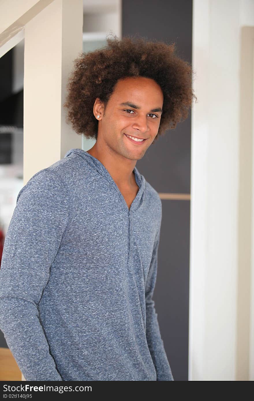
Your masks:
<svg viewBox="0 0 254 401"><path fill-rule="evenodd" d="M20 190L0 269L0 328L26 380L173 381L152 295L162 208L136 161L187 117L191 67L124 38L75 61L71 149Z"/></svg>

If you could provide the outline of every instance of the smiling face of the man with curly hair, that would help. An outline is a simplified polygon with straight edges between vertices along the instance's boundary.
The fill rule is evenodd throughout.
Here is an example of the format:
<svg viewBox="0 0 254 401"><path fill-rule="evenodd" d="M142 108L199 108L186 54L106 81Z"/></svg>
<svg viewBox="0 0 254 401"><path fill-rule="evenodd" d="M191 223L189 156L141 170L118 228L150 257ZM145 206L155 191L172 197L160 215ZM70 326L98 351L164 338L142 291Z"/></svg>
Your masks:
<svg viewBox="0 0 254 401"><path fill-rule="evenodd" d="M163 92L153 79L120 79L102 113L97 142L130 160L141 159L158 133L162 107Z"/></svg>

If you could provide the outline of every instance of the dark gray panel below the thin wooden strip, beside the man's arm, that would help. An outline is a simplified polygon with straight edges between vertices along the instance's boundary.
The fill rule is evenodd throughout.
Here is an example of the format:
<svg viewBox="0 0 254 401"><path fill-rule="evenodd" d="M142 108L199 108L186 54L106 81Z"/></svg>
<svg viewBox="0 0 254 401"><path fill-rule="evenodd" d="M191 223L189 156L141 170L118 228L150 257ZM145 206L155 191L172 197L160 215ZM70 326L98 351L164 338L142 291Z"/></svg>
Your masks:
<svg viewBox="0 0 254 401"><path fill-rule="evenodd" d="M175 380L188 380L190 201L162 200L154 302Z"/></svg>

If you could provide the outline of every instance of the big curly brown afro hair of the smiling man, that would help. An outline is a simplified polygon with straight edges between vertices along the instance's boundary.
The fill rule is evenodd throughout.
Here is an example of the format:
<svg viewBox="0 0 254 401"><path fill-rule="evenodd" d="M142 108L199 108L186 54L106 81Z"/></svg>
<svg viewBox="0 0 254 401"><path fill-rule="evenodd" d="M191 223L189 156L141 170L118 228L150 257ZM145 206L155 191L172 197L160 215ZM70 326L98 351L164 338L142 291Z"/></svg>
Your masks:
<svg viewBox="0 0 254 401"><path fill-rule="evenodd" d="M67 83L64 107L68 108L67 123L77 134L96 138L98 120L93 105L98 97L104 110L117 81L124 77L152 78L163 91L163 113L159 135L174 129L188 117L193 97L192 70L187 61L175 54L175 43L167 45L146 38L107 36L108 45L88 53L80 53Z"/></svg>

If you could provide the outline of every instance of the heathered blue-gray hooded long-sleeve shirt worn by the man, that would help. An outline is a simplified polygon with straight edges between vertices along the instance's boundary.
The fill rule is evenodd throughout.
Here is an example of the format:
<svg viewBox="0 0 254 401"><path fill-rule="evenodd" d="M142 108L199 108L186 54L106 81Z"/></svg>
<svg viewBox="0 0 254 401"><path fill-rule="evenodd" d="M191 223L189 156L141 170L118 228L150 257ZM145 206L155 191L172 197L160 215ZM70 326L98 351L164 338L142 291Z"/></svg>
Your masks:
<svg viewBox="0 0 254 401"><path fill-rule="evenodd" d="M20 190L2 255L0 328L26 380L174 380L152 300L161 199L134 174L130 210L81 149Z"/></svg>

